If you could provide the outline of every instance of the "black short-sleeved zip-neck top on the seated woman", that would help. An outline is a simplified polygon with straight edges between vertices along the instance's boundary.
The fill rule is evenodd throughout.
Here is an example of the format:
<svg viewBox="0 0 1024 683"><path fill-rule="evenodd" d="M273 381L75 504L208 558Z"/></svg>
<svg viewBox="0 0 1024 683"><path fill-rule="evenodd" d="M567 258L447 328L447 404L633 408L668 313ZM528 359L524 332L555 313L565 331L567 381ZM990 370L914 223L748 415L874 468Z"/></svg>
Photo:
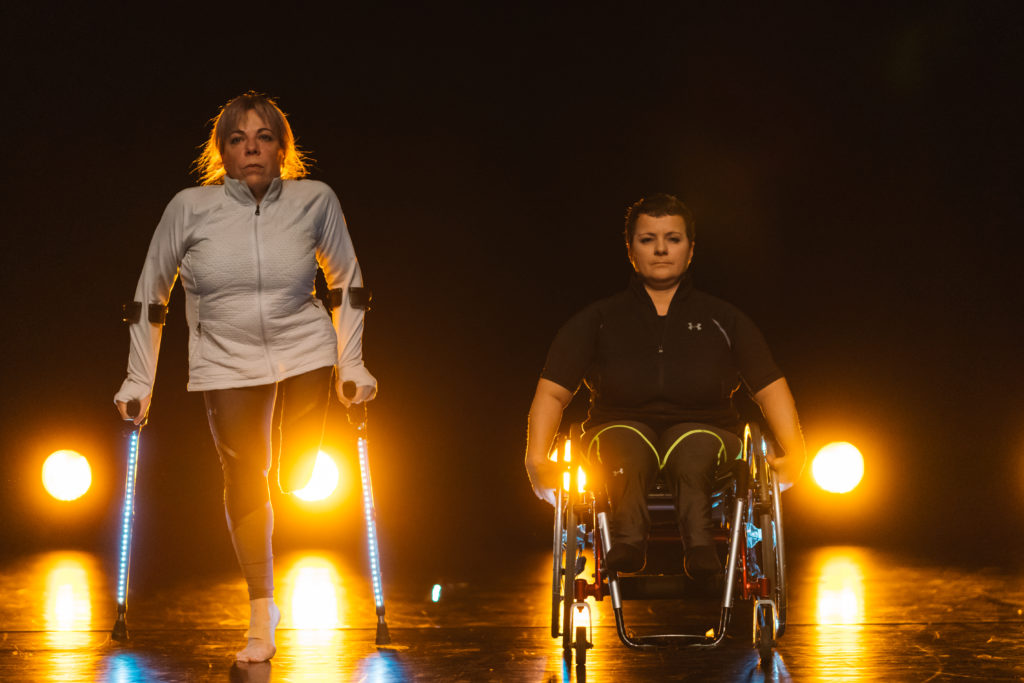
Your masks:
<svg viewBox="0 0 1024 683"><path fill-rule="evenodd" d="M666 427L699 422L736 431L732 394L782 377L764 337L739 309L680 283L658 316L634 276L629 288L573 315L555 336L545 379L590 389L587 425L616 420Z"/></svg>

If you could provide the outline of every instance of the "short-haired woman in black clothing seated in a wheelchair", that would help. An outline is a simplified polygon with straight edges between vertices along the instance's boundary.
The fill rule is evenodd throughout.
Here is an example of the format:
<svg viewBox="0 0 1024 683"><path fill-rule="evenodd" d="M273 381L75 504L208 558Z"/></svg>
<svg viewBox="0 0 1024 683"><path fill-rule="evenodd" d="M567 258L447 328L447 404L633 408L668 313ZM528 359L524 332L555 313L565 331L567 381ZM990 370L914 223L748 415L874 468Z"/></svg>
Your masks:
<svg viewBox="0 0 1024 683"><path fill-rule="evenodd" d="M636 271L629 287L572 316L548 352L529 409L526 471L555 505L561 469L548 460L562 413L581 382L590 390L583 445L599 463L611 504L607 566L643 568L650 517L645 495L660 472L673 495L684 569L721 569L712 538L716 469L741 449L732 396L740 382L763 411L782 454L768 456L792 484L804 466L793 394L761 332L731 304L693 288L694 222L675 197L652 195L626 214Z"/></svg>

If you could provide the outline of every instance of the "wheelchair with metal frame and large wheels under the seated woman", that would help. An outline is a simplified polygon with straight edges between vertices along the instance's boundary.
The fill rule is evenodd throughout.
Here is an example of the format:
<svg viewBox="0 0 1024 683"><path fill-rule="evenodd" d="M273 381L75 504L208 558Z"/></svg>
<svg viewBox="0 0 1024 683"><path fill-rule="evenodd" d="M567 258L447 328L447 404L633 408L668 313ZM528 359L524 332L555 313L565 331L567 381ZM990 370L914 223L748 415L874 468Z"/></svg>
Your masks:
<svg viewBox="0 0 1024 683"><path fill-rule="evenodd" d="M550 458L563 466L563 485L557 493L554 513L551 636L561 638L565 660L578 667L587 660L593 647L593 628L587 598L603 601L610 597L615 628L622 642L633 649L658 647L703 647L720 645L730 625L733 603L738 598L753 605L752 640L763 669L767 669L772 649L785 632L786 574L782 538L782 506L778 481L766 455L770 443L757 424L743 430L740 456L718 468L712 495L712 518L715 541L723 559L724 580L717 626L705 633L668 633L637 635L626 626L624 600L680 599L689 582L678 563L676 573L617 575L605 565L610 549L609 504L599 484L597 468L590 468L578 454L581 429L574 425L569 434L560 435ZM591 480L588 485L587 479ZM671 495L664 483L647 494L652 513L674 510ZM651 544L656 522L651 527ZM672 525L675 517L672 515ZM664 527L663 527L664 528ZM680 545L678 530L675 543ZM593 569L585 574L588 555Z"/></svg>

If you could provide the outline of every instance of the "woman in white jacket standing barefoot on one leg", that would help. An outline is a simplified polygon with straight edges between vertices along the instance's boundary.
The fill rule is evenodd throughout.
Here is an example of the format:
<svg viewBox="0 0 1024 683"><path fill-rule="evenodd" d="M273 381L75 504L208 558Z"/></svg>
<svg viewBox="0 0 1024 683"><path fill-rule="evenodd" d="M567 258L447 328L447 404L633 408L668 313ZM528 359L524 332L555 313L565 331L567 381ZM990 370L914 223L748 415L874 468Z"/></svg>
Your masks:
<svg viewBox="0 0 1024 683"><path fill-rule="evenodd" d="M312 472L332 381L348 405L374 397L362 365L368 297L337 197L306 175L284 113L265 95L227 102L197 162L203 185L171 200L150 244L134 302L128 377L115 396L123 419L135 399L146 416L163 325L180 273L188 322L188 390L202 391L224 473L224 507L249 588L249 642L241 661L275 652L273 511L267 473L280 429L279 483ZM328 317L314 296L319 265ZM344 382L356 385L346 397ZM278 410L274 410L275 403Z"/></svg>

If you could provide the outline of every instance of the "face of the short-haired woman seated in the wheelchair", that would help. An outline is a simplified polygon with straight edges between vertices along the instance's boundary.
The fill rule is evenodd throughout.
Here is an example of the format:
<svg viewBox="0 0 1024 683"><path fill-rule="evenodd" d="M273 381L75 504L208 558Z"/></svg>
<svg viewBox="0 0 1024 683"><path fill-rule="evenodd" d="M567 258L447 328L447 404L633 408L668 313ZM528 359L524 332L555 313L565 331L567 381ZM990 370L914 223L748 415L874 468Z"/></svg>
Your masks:
<svg viewBox="0 0 1024 683"><path fill-rule="evenodd" d="M648 287L666 289L682 280L693 258L693 243L686 237L682 216L637 218L630 261Z"/></svg>

